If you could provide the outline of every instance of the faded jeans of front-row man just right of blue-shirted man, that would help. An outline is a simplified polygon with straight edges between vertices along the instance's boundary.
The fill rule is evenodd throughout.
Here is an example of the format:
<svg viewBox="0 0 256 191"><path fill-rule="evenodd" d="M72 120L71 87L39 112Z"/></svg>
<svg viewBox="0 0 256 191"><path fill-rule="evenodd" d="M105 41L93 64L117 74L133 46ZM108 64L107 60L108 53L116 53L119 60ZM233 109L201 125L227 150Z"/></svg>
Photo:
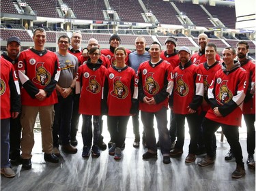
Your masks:
<svg viewBox="0 0 256 191"><path fill-rule="evenodd" d="M162 156L170 156L171 139L167 128L167 108L165 107L154 113L141 111L141 121L144 127L147 150L153 153L157 152L154 116L156 116Z"/></svg>

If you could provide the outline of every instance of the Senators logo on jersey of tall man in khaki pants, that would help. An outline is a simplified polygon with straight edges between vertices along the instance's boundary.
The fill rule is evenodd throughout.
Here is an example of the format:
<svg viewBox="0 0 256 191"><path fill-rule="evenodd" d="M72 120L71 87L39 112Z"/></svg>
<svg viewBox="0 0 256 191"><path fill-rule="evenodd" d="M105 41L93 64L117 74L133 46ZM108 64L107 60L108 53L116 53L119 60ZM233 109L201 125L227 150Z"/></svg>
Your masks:
<svg viewBox="0 0 256 191"><path fill-rule="evenodd" d="M32 81L42 86L47 86L51 82L51 74L44 68L44 63L36 64L35 76Z"/></svg>

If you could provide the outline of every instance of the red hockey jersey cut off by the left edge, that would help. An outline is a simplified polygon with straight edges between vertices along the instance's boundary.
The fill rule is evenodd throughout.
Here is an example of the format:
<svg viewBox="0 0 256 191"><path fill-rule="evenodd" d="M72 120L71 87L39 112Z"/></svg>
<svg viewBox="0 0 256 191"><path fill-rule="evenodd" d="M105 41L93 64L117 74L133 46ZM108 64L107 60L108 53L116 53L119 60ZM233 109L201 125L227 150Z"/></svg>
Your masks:
<svg viewBox="0 0 256 191"><path fill-rule="evenodd" d="M20 112L20 88L18 86L18 77L14 71L12 63L0 57L1 65L1 120L11 117L11 112Z"/></svg>

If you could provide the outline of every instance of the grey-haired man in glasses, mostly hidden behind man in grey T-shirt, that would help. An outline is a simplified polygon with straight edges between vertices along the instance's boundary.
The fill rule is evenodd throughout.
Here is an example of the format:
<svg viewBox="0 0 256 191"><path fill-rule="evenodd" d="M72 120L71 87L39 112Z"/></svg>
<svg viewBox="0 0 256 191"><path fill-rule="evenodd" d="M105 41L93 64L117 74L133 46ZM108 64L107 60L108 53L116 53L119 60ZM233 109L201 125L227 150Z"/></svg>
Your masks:
<svg viewBox="0 0 256 191"><path fill-rule="evenodd" d="M68 52L76 56L76 58L78 59L79 59L79 56L82 55L81 43L82 43L81 32L74 31L72 33L71 44L70 44L70 47L68 48ZM79 63L79 65L80 64L81 63ZM73 105L72 119L71 119L70 143L72 146L76 146L77 145L76 133L79 130L80 114L79 114L79 97L76 97L74 90L73 90L73 100L74 100L74 105Z"/></svg>

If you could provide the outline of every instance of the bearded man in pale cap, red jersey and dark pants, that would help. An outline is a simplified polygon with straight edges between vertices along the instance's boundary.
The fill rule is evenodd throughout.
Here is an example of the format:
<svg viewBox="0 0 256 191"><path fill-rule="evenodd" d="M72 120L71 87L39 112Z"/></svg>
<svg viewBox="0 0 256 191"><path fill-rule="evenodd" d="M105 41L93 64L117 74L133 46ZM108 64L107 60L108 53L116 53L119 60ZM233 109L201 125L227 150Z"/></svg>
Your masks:
<svg viewBox="0 0 256 191"><path fill-rule="evenodd" d="M183 46L179 52L180 64L173 69L173 113L177 125L177 141L170 155L183 153L185 138L185 119L188 121L190 144L185 162L194 162L197 158L197 138L199 129L199 109L203 101L203 77L197 65L193 65L190 50Z"/></svg>

